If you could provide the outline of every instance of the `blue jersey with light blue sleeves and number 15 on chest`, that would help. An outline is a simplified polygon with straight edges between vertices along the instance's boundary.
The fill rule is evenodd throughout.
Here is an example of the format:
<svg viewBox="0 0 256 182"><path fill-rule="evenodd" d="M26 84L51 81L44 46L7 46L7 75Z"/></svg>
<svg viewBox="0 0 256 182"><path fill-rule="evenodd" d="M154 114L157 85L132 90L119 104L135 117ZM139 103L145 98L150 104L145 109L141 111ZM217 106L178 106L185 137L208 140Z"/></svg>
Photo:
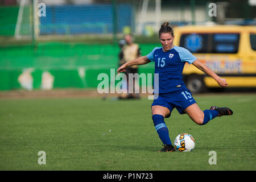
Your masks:
<svg viewBox="0 0 256 182"><path fill-rule="evenodd" d="M147 58L155 61L155 73L159 73L159 93L187 89L182 79L185 63L192 64L196 57L183 47L174 46L167 52L162 47L154 48Z"/></svg>

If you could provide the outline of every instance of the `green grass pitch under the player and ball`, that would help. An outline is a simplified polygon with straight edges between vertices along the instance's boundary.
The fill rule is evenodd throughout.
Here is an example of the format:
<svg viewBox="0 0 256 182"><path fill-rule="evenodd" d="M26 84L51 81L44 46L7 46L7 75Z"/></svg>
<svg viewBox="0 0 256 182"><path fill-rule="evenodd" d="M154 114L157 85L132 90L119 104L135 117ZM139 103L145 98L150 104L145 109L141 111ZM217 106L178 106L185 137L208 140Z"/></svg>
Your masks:
<svg viewBox="0 0 256 182"><path fill-rule="evenodd" d="M202 110L234 115L196 125L175 109L165 122L172 142L196 140L192 152L159 153L151 100L38 98L0 100L0 170L255 170L256 94L195 95ZM39 165L39 151L46 165ZM208 163L216 151L217 164Z"/></svg>

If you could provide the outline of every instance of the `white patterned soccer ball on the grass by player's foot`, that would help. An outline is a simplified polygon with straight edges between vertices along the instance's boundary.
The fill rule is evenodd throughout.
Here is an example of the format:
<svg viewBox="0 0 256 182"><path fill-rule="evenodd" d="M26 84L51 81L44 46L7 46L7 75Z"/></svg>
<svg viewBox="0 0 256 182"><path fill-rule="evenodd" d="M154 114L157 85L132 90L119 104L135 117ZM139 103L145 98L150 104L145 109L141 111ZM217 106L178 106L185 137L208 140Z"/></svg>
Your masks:
<svg viewBox="0 0 256 182"><path fill-rule="evenodd" d="M174 147L180 152L191 152L195 148L195 139L192 135L181 133L174 140Z"/></svg>

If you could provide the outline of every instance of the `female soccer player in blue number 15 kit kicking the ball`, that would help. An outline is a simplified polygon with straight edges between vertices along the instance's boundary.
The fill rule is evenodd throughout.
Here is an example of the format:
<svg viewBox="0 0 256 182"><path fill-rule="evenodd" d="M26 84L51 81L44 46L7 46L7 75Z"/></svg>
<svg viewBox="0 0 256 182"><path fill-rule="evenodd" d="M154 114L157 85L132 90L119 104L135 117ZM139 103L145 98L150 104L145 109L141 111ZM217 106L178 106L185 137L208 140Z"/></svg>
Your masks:
<svg viewBox="0 0 256 182"><path fill-rule="evenodd" d="M211 76L218 85L228 86L225 78L221 78L206 65L201 63L187 49L174 46L174 31L169 23L162 24L159 30L159 39L162 47L154 48L147 56L138 57L118 68L117 72L125 72L125 68L131 65L142 65L155 61L155 73L159 74L159 96L151 105L152 120L164 148L159 152L175 151L172 146L169 131L164 118L171 115L174 107L180 114L188 116L198 125L205 125L211 119L232 115L233 111L228 107L211 106L209 110L202 111L193 99L191 92L182 80L184 64L187 62Z"/></svg>

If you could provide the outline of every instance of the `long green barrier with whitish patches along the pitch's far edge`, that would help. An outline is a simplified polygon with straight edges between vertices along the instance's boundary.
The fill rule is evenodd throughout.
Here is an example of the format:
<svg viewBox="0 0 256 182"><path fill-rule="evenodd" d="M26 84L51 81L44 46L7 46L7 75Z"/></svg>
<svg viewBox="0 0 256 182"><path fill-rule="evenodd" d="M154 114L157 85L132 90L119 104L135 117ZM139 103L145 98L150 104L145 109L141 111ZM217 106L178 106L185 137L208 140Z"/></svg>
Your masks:
<svg viewBox="0 0 256 182"><path fill-rule="evenodd" d="M147 55L157 44L140 44ZM119 47L112 44L40 43L0 48L0 90L97 88L100 73L118 67ZM139 68L154 73L154 64Z"/></svg>

